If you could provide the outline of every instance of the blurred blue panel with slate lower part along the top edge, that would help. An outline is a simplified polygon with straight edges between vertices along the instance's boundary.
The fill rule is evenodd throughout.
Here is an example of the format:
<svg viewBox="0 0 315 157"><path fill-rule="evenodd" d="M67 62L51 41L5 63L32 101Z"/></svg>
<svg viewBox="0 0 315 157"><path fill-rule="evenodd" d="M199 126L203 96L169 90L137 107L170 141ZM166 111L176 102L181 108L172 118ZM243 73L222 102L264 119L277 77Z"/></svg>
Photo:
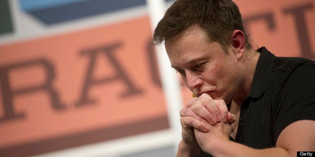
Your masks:
<svg viewBox="0 0 315 157"><path fill-rule="evenodd" d="M21 7L45 24L54 24L129 7L146 0L20 0ZM33 2L31 2L33 1ZM45 1L45 3L44 3ZM172 0L167 0L172 1Z"/></svg>

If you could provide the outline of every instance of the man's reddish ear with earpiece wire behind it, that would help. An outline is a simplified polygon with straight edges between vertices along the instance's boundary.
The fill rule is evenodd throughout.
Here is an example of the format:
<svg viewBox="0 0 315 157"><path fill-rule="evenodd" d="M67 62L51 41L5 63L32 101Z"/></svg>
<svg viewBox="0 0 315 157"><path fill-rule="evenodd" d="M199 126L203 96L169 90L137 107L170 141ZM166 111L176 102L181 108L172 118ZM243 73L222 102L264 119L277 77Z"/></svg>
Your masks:
<svg viewBox="0 0 315 157"><path fill-rule="evenodd" d="M237 59L243 57L245 51L245 34L241 30L234 30L231 35L231 45Z"/></svg>

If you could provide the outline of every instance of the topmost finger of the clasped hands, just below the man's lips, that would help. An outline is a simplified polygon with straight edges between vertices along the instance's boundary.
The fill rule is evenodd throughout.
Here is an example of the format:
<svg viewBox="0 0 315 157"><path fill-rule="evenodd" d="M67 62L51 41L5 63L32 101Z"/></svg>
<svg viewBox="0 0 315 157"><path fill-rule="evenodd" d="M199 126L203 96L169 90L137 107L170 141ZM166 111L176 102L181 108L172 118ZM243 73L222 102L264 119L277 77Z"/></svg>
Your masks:
<svg viewBox="0 0 315 157"><path fill-rule="evenodd" d="M216 121L220 122L222 119L222 116L220 114L220 110L218 109L212 97L207 93L203 93L198 98L200 99L202 104L204 104L206 108L210 111L210 113L214 116Z"/></svg>

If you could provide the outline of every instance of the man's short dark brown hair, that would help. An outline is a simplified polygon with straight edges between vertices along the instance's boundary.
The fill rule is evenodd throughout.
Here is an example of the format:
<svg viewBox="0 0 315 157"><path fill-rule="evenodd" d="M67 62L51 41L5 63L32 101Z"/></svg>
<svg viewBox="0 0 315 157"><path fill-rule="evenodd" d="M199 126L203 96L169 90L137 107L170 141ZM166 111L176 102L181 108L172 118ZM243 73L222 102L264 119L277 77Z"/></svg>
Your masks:
<svg viewBox="0 0 315 157"><path fill-rule="evenodd" d="M157 24L154 43L175 39L195 25L205 30L210 41L219 42L225 49L235 29L244 32L240 11L232 0L177 0Z"/></svg>

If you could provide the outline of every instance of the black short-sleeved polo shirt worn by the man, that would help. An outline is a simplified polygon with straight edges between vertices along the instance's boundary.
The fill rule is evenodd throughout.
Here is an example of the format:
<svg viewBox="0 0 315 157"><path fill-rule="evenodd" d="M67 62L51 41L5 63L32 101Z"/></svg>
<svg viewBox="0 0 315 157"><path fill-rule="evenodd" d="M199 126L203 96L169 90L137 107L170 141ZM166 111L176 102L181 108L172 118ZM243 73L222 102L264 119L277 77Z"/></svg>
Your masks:
<svg viewBox="0 0 315 157"><path fill-rule="evenodd" d="M315 120L315 62L276 57L265 47L258 51L260 57L250 92L241 105L234 141L261 149L275 147L279 134L290 123Z"/></svg>

